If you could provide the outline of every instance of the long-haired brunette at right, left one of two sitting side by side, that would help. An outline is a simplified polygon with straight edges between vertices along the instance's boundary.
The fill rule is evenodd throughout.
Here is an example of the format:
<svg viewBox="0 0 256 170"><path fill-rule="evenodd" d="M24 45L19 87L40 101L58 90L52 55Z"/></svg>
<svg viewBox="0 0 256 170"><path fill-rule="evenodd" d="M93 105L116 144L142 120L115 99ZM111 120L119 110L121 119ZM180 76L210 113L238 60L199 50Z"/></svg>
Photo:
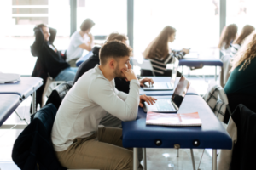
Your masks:
<svg viewBox="0 0 256 170"><path fill-rule="evenodd" d="M229 26L224 27L218 43L218 48L224 55L230 54L231 44L236 39L236 34L237 34L236 24L230 24Z"/></svg>

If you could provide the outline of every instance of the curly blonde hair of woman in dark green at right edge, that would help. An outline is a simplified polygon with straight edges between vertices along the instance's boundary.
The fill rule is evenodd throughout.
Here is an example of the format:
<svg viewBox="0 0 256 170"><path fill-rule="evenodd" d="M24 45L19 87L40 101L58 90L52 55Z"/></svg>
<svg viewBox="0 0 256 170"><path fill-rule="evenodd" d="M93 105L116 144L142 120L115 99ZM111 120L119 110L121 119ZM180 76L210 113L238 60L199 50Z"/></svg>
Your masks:
<svg viewBox="0 0 256 170"><path fill-rule="evenodd" d="M245 40L241 48L236 54L235 59L232 62L231 71L241 65L239 71L245 70L251 63L252 59L256 57L256 31L253 31ZM231 72L230 71L230 72Z"/></svg>

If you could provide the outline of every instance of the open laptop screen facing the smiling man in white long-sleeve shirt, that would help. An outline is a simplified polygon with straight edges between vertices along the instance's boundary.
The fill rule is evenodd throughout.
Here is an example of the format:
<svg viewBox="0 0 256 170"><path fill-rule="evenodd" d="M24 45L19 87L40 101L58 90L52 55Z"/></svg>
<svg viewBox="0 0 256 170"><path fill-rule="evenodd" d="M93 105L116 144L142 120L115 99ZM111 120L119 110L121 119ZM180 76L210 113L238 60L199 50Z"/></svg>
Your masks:
<svg viewBox="0 0 256 170"><path fill-rule="evenodd" d="M172 94L172 98L171 98L172 104L176 107L177 110L182 104L183 99L188 92L189 86L190 86L189 80L183 76L180 77L180 80L177 83L177 87L175 88L175 91Z"/></svg>

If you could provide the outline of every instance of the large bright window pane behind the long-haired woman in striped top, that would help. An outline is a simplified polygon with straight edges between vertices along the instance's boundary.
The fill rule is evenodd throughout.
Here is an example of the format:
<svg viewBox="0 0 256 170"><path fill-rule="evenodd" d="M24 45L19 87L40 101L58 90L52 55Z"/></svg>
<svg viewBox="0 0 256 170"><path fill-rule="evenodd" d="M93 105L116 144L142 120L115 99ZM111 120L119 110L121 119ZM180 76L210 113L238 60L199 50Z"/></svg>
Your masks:
<svg viewBox="0 0 256 170"><path fill-rule="evenodd" d="M176 40L169 44L170 48L191 48L191 52L199 53L202 58L218 57L219 0L134 1L136 58L142 58L143 50L165 26L177 30ZM209 72L214 73L211 68Z"/></svg>

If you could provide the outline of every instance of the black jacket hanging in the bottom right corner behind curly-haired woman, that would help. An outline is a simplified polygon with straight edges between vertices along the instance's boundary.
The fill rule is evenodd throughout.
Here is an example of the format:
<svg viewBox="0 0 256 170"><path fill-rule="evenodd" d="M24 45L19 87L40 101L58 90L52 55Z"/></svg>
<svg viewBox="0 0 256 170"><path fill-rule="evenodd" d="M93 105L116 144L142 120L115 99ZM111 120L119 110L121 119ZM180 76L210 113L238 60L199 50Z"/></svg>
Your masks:
<svg viewBox="0 0 256 170"><path fill-rule="evenodd" d="M256 113L245 105L238 105L232 114L237 127L230 170L256 169Z"/></svg>

